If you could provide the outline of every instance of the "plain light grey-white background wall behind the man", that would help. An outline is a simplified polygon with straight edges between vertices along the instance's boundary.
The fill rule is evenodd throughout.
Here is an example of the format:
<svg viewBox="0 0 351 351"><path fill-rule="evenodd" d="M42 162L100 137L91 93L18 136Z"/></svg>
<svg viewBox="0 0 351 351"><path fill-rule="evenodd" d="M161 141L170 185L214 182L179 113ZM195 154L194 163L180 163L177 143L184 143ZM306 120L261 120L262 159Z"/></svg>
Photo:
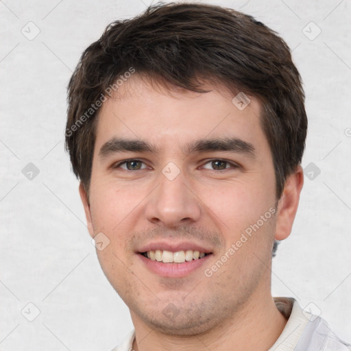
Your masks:
<svg viewBox="0 0 351 351"><path fill-rule="evenodd" d="M149 3L0 1L0 350L110 350L132 329L99 267L64 153L66 86L106 25ZM293 49L309 119L303 166L313 162L321 173L305 180L293 233L274 259L272 290L320 310L351 341L351 2L212 3L252 14ZM314 40L311 21L322 29ZM32 180L22 173L29 162L40 171ZM34 317L29 302L40 310L33 322L23 316Z"/></svg>

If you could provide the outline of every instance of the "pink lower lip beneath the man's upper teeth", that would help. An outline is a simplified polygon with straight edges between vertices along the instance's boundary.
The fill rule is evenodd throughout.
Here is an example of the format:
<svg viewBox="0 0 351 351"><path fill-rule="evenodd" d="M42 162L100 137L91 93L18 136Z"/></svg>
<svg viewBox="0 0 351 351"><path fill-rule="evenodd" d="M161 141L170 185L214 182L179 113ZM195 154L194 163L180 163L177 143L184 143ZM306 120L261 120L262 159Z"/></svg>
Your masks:
<svg viewBox="0 0 351 351"><path fill-rule="evenodd" d="M152 261L139 253L137 256L141 259L141 262L147 267L147 269L149 269L149 271L152 271L152 273L157 274L158 276L165 278L182 278L189 276L189 274L193 273L193 271L206 264L208 258L212 256L212 254L204 256L203 258L198 258L197 260L186 261L184 263L163 263Z"/></svg>

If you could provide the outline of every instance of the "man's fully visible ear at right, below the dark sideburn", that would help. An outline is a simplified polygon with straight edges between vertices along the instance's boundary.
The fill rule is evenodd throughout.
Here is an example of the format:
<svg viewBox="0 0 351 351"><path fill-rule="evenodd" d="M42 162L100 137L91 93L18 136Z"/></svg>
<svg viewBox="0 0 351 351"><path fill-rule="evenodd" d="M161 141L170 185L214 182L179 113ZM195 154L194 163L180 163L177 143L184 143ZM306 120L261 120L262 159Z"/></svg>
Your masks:
<svg viewBox="0 0 351 351"><path fill-rule="evenodd" d="M295 172L289 175L285 181L284 190L278 202L276 234L274 237L276 240L287 239L291 233L303 184L304 171L301 166L298 166Z"/></svg>

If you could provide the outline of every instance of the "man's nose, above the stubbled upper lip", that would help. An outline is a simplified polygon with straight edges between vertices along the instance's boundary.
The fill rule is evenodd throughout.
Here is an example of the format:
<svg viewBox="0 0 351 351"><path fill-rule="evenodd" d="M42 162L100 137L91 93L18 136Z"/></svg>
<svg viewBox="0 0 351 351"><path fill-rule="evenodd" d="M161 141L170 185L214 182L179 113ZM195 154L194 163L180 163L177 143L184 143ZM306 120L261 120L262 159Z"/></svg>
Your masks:
<svg viewBox="0 0 351 351"><path fill-rule="evenodd" d="M201 217L201 201L191 189L184 174L171 180L160 173L159 185L148 197L145 210L147 221L176 228L196 222Z"/></svg>

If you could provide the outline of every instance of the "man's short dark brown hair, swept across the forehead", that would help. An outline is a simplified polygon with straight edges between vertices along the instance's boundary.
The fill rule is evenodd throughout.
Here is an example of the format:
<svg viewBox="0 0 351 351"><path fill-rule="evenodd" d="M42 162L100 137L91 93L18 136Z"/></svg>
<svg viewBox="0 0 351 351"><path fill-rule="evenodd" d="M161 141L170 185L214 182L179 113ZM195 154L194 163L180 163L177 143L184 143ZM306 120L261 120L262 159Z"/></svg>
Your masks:
<svg viewBox="0 0 351 351"><path fill-rule="evenodd" d="M86 191L99 112L95 101L101 105L106 89L131 67L187 90L206 91L199 84L206 78L258 98L280 197L302 160L307 129L304 91L289 47L252 16L197 3L158 4L115 21L82 54L68 87L66 149Z"/></svg>

